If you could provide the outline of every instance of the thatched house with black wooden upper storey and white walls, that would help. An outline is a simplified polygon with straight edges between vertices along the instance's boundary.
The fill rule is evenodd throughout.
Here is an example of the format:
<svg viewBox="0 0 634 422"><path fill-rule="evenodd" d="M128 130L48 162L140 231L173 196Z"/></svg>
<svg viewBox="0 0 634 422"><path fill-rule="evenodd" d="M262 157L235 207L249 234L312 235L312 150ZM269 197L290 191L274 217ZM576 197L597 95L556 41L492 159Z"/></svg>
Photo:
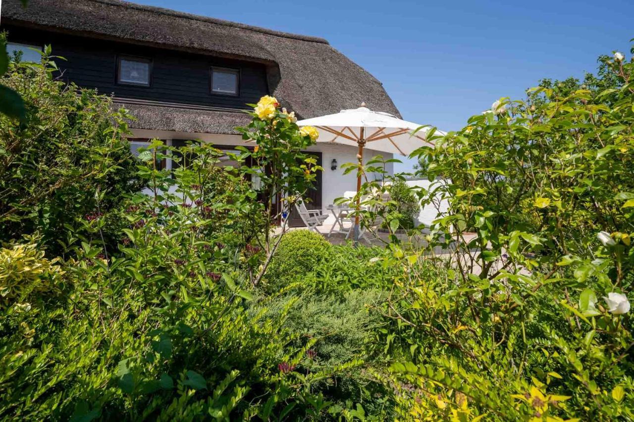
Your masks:
<svg viewBox="0 0 634 422"><path fill-rule="evenodd" d="M28 47L51 44L66 59L61 78L112 94L131 112L133 150L151 138L172 146L200 139L232 150L243 144L234 128L249 121L242 110L266 94L299 118L362 101L400 117L382 84L325 39L119 0L30 0L27 9L4 0L1 8L10 49L28 59L37 56ZM340 167L356 162L356 147L317 144L309 151L324 168L309 208L327 213L335 198L356 190L355 175ZM292 215L290 223L301 219Z"/></svg>

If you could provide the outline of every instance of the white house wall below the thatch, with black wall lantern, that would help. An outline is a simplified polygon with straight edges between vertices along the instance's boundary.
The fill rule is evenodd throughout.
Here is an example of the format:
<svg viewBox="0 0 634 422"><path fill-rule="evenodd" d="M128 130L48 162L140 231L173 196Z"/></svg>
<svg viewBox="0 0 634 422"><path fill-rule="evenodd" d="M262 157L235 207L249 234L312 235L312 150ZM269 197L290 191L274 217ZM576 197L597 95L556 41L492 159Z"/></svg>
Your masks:
<svg viewBox="0 0 634 422"><path fill-rule="evenodd" d="M133 129L133 137L146 137L165 139L167 144L171 144L171 139L200 139L201 141L210 142L220 145L245 145L253 146L253 143L245 143L240 135L221 135L208 133L187 133L187 132L168 132L168 131L147 131L145 129ZM334 203L335 198L344 195L345 191L356 191L356 172L344 175L341 165L344 163L356 163L358 149L355 146L337 145L317 143L308 151L322 153L322 194L321 205L323 212L328 213L329 218L327 224L334 222L334 216L326 209L328 205ZM392 154L379 153L373 150L365 150L363 153L363 162L368 162L375 155L382 155L386 160L392 158ZM337 170L331 170L332 160L337 160ZM394 174L394 163L387 163L386 169L388 174ZM374 179L380 178L379 174L373 174Z"/></svg>

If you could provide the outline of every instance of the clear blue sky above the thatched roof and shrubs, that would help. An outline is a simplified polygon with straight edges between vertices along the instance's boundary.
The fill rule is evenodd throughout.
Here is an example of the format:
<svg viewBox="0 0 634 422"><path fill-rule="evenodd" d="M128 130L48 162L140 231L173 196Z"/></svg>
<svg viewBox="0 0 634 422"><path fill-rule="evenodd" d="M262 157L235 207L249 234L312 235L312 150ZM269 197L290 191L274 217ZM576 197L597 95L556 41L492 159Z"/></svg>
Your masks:
<svg viewBox="0 0 634 422"><path fill-rule="evenodd" d="M324 37L383 82L403 118L445 131L543 77L581 77L599 54L628 56L634 37L631 0L135 1Z"/></svg>

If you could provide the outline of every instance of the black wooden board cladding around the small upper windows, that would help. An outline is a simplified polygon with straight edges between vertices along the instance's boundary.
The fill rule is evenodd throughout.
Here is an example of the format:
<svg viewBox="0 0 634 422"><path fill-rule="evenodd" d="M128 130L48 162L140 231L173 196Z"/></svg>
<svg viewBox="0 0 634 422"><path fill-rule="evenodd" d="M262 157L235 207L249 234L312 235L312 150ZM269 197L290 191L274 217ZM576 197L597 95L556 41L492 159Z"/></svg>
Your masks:
<svg viewBox="0 0 634 422"><path fill-rule="evenodd" d="M96 88L101 94L116 98L157 101L219 108L244 109L269 93L266 66L257 62L159 49L124 42L108 41L44 32L3 25L9 42L44 46L51 44L58 60L61 78L78 86ZM148 58L152 62L150 86L117 83L117 60L120 56ZM240 74L238 96L211 92L212 67L236 69Z"/></svg>

